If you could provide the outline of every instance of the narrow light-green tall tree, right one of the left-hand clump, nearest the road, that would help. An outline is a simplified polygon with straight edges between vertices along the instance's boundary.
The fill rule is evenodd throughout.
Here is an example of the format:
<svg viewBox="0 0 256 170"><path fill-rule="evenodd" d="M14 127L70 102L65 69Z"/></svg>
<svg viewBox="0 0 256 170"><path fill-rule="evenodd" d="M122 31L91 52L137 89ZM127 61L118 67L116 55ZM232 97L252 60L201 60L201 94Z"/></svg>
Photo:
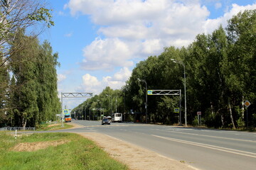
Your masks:
<svg viewBox="0 0 256 170"><path fill-rule="evenodd" d="M38 123L53 120L60 111L57 91L57 73L55 67L58 63L58 53L53 54L50 43L45 41L40 47L36 60L38 69L38 108L40 111Z"/></svg>

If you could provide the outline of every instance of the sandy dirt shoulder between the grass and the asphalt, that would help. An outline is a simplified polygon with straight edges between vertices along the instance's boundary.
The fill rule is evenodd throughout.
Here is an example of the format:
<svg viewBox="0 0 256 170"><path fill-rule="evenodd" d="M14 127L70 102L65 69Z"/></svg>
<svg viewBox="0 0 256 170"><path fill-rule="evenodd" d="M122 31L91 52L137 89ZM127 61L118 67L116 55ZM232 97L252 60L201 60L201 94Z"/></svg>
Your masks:
<svg viewBox="0 0 256 170"><path fill-rule="evenodd" d="M74 128L83 127L75 123L70 124L74 125ZM148 149L138 147L137 145L132 145L128 142L124 142L108 135L95 132L80 132L78 134L95 141L97 145L104 149L105 152L109 153L111 157L117 159L119 162L127 164L129 169L132 170L194 169L188 164L178 162L174 159L169 159L168 157L156 154L156 152L151 152Z"/></svg>

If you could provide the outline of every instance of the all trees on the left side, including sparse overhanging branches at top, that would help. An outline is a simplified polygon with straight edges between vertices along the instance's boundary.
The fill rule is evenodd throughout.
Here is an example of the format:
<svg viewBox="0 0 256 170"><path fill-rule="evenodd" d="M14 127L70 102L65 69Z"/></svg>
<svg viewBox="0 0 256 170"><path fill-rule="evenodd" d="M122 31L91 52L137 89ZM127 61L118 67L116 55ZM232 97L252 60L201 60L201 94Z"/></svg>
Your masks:
<svg viewBox="0 0 256 170"><path fill-rule="evenodd" d="M48 41L30 33L33 26L53 26L43 1L0 2L0 123L36 127L60 112L57 91L58 53ZM43 27L42 27L43 28Z"/></svg>

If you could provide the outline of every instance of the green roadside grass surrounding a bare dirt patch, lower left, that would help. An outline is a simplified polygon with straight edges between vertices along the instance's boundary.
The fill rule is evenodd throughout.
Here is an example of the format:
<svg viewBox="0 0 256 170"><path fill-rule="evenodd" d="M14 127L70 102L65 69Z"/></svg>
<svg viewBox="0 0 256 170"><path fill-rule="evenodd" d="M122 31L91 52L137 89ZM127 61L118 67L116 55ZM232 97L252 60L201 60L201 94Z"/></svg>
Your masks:
<svg viewBox="0 0 256 170"><path fill-rule="evenodd" d="M15 145L24 142L65 140L63 145L49 146L33 152L17 152ZM13 135L0 132L0 169L128 169L112 159L94 142L73 133L34 133L22 135L15 140Z"/></svg>

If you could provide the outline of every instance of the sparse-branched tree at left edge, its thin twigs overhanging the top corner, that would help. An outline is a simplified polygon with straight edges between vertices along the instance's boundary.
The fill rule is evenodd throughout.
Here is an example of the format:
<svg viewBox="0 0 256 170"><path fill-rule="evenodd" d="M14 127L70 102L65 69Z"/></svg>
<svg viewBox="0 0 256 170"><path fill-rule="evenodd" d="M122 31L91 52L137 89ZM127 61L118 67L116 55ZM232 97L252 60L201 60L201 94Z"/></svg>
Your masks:
<svg viewBox="0 0 256 170"><path fill-rule="evenodd" d="M45 4L41 0L1 0L0 1L0 70L1 76L4 75L4 70L10 67L10 60L14 53L20 52L25 49L29 43L16 43L16 36L24 32L24 30L30 27L31 32L29 33L31 39L36 38L38 34L43 31L44 26L41 29L32 29L32 26L36 26L37 23L46 23L48 27L53 26L54 23L51 20L50 9L45 8ZM20 33L21 32L21 33ZM28 30L26 31L28 33ZM33 35L33 36L32 36ZM12 48L12 49L10 49ZM21 62L21 60L16 60L16 62ZM14 64L14 61L12 62ZM7 72L8 74L8 72ZM3 77L1 77L3 78ZM9 91L9 82L4 81L3 78L0 81L0 91ZM8 78L7 78L8 79ZM9 91L11 93L13 91ZM1 97L6 95L1 94ZM10 95L10 94L9 94ZM1 104L5 102L6 99L1 100ZM0 108L0 115L2 117L3 113L6 113L6 108Z"/></svg>

